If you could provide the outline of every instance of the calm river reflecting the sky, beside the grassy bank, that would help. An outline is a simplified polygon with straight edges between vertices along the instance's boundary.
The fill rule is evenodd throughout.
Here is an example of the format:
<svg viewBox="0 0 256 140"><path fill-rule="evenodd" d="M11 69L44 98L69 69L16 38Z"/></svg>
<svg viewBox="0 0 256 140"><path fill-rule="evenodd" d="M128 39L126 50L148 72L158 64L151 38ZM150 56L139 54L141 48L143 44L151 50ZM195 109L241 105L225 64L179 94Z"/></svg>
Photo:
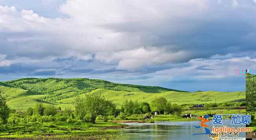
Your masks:
<svg viewBox="0 0 256 140"><path fill-rule="evenodd" d="M245 127L245 125L231 125L231 120L223 120L222 123L227 127ZM126 134L126 140L211 140L208 134L192 136L195 133L205 133L204 128L197 129L194 127L194 125L199 126L200 121L123 124L128 125L122 130L122 133ZM212 120L205 124L209 125L210 131L212 131ZM222 127L223 125L214 126ZM227 135L229 136L229 134ZM243 137L243 140L245 140L245 133L239 133L238 137Z"/></svg>

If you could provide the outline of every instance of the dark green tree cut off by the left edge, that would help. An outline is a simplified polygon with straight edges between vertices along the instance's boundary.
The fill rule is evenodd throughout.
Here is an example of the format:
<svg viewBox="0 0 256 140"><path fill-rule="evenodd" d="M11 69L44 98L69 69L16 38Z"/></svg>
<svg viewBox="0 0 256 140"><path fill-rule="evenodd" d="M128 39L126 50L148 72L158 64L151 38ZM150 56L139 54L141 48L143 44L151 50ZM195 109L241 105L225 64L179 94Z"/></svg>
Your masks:
<svg viewBox="0 0 256 140"><path fill-rule="evenodd" d="M10 114L10 108L6 104L6 96L3 95L3 92L0 90L0 118L2 123L7 123L7 119Z"/></svg>

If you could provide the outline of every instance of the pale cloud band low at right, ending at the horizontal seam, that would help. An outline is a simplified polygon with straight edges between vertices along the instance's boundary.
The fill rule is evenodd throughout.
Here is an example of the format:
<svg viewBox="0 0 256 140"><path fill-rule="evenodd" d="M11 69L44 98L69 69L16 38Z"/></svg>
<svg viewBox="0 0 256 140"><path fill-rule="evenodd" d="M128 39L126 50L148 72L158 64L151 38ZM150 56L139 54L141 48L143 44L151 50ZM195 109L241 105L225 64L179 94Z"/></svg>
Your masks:
<svg viewBox="0 0 256 140"><path fill-rule="evenodd" d="M231 57L228 59L192 59L189 66L161 70L152 75L214 75L236 76L240 69L256 69L256 59L251 57ZM199 67L202 67L200 69Z"/></svg>

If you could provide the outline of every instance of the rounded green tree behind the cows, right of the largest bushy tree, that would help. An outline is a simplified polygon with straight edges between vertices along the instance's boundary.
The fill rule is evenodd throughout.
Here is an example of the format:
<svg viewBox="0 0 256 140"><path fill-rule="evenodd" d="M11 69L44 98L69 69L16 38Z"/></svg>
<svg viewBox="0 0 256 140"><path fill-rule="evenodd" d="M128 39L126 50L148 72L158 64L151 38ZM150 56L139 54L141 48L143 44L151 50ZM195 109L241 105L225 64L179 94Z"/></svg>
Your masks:
<svg viewBox="0 0 256 140"><path fill-rule="evenodd" d="M163 97L158 97L152 100L150 107L152 111L158 111L159 114L165 111L167 100Z"/></svg>

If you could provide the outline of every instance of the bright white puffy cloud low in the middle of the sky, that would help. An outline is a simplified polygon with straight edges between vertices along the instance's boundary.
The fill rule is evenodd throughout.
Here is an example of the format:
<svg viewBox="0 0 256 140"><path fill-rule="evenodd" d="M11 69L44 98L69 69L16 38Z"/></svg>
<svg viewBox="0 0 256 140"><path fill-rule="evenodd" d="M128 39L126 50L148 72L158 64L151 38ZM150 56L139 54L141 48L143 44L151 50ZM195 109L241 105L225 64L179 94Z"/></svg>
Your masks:
<svg viewBox="0 0 256 140"><path fill-rule="evenodd" d="M186 51L170 52L163 48L138 48L133 50L97 53L95 59L107 63L117 63L120 70L139 70L143 67L158 65L163 63L177 63L179 57L189 57Z"/></svg>

